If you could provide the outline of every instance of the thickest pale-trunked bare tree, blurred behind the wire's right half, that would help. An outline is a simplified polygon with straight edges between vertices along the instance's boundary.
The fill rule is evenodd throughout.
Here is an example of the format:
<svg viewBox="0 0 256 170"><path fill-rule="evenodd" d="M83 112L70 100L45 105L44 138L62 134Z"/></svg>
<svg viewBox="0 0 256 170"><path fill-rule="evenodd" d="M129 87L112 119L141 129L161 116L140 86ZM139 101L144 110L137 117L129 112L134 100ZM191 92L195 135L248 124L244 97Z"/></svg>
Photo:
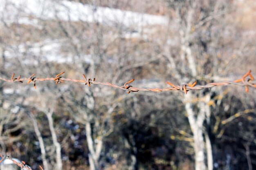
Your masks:
<svg viewBox="0 0 256 170"><path fill-rule="evenodd" d="M183 81L198 79L199 73L207 74L207 69L203 71L201 68L203 68L202 64L207 62L207 41L211 38L211 27L216 23L216 18L220 18L224 13L227 13L227 8L225 8L225 2L220 1L171 0L169 5L175 12L173 18L175 18L175 22L178 25L180 57L168 54L168 52L164 53L164 55L167 56L170 62L169 68L173 71L174 77L182 84ZM213 55L213 60L210 62L210 73L213 75L217 71L217 60L216 56ZM212 95L213 91L202 91L201 93L187 94L182 99L193 132L196 170L205 170L207 166L209 170L213 169L211 142L207 134L208 132L204 132L205 120L207 121L207 126L210 126L211 109L208 103ZM196 96L199 96L201 100L198 104L193 104L192 101ZM206 148L204 147L204 134L206 134ZM207 151L207 157L204 155L204 149ZM205 163L206 159L207 166Z"/></svg>

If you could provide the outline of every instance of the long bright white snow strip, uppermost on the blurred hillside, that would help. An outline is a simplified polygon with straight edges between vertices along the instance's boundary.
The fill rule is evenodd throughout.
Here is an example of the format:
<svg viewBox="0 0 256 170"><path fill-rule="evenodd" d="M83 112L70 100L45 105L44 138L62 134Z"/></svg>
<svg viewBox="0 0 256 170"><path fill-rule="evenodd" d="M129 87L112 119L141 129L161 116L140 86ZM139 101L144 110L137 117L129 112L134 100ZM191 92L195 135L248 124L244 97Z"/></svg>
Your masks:
<svg viewBox="0 0 256 170"><path fill-rule="evenodd" d="M32 25L37 25L37 20L24 18L26 15L44 20L99 22L109 26L123 25L135 28L145 25L168 24L168 18L164 16L122 11L108 7L95 7L67 0L60 2L51 0L5 0L0 4L2 6L0 11L11 11L11 13L4 14L3 18L5 20ZM23 16L23 18L17 21L18 16Z"/></svg>

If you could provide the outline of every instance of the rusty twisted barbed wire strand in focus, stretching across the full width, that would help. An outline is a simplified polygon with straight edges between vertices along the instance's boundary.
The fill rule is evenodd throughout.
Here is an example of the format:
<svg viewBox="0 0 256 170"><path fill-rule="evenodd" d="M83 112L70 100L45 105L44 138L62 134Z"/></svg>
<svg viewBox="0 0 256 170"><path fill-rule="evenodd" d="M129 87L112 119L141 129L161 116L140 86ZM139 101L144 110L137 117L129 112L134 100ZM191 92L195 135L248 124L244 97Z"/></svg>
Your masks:
<svg viewBox="0 0 256 170"><path fill-rule="evenodd" d="M4 82L24 82L24 81L28 81L27 84L29 84L30 82L34 83L34 88L36 89L36 82L40 82L40 81L55 81L56 84L61 83L61 82L65 82L65 81L70 81L70 82L77 82L77 83L85 83L85 85L88 85L89 87L91 86L91 84L101 84L104 86L112 86L114 88L119 88L121 90L127 91L127 93L131 93L131 92L138 92L138 91L152 91L152 92L165 92L165 91L182 91L185 94L190 91L190 90L202 90L203 88L212 88L214 86L227 86L227 85L237 85L237 86L245 86L245 91L249 92L249 87L252 88L256 88L256 81L254 80L254 77L251 74L251 70L249 70L245 75L243 75L243 77L241 79L236 79L234 81L221 81L221 82L213 82L213 83L209 83L206 85L196 85L196 82L194 82L193 84L180 84L180 85L174 85L170 82L166 82L168 85L170 85L171 87L166 87L166 88L138 88L138 87L133 87L131 86L129 83L133 82L135 79L131 79L130 81L124 83L124 85L119 86L117 84L112 84L109 82L98 82L95 81L94 79L87 79L85 77L85 75L83 74L83 79L71 79L71 78L64 78L64 77L60 77L61 75L63 75L65 72L61 72L60 74L56 75L55 77L50 77L50 78L37 78L35 77L35 73L32 74L29 78L21 78L21 75L19 77L14 78L14 73L11 76L11 79L5 79L0 77L0 80L4 81Z"/></svg>

